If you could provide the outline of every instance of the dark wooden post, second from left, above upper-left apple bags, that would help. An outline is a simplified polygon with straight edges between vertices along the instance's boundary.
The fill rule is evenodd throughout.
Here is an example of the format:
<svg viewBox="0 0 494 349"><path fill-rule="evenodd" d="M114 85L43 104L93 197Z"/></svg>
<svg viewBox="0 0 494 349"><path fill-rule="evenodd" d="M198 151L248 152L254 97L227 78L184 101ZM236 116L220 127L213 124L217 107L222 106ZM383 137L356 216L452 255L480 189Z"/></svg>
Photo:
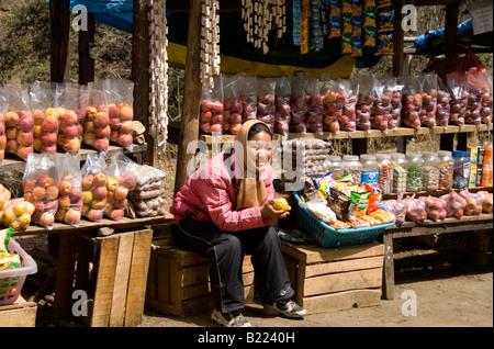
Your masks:
<svg viewBox="0 0 494 349"><path fill-rule="evenodd" d="M79 83L94 81L94 58L91 44L94 43L94 13L88 12L88 30L79 31Z"/></svg>

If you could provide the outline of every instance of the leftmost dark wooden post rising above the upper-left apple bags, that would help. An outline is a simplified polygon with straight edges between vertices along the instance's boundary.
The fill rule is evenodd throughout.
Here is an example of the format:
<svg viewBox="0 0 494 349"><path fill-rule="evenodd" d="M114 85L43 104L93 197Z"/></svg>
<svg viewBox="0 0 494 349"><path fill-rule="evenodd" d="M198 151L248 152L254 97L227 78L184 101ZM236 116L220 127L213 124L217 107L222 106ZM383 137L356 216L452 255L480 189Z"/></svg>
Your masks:
<svg viewBox="0 0 494 349"><path fill-rule="evenodd" d="M70 81L70 8L69 0L49 1L50 77L54 82Z"/></svg>

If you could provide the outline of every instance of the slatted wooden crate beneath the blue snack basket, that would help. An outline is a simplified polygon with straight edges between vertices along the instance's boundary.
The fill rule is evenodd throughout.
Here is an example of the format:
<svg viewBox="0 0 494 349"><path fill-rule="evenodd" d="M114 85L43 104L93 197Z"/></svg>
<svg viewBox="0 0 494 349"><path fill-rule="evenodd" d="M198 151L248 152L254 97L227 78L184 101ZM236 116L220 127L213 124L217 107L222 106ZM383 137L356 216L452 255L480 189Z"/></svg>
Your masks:
<svg viewBox="0 0 494 349"><path fill-rule="evenodd" d="M295 302L310 314L378 305L382 294L384 245L340 248L282 241Z"/></svg>

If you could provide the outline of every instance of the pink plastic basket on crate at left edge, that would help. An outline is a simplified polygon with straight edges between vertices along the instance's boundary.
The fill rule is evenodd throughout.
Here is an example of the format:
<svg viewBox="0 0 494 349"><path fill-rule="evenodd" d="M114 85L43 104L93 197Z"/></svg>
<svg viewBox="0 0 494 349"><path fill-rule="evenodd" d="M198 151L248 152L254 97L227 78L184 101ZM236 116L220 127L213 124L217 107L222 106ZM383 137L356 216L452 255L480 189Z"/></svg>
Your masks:
<svg viewBox="0 0 494 349"><path fill-rule="evenodd" d="M25 278L37 272L34 259L12 238L9 240L9 251L19 252L21 267L0 271L0 305L14 303L21 294Z"/></svg>

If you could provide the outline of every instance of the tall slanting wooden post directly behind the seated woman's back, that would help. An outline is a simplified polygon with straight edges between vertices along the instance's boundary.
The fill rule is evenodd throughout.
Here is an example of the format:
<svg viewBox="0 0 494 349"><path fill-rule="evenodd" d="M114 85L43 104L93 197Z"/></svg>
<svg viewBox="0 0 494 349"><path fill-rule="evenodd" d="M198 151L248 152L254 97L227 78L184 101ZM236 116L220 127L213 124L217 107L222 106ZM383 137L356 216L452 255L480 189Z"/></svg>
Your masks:
<svg viewBox="0 0 494 349"><path fill-rule="evenodd" d="M199 104L202 93L200 81L201 54L201 1L190 0L189 27L187 36L186 75L183 86L183 108L178 144L177 174L175 192L177 193L188 179L187 166L194 157L188 154L187 147L199 137Z"/></svg>

